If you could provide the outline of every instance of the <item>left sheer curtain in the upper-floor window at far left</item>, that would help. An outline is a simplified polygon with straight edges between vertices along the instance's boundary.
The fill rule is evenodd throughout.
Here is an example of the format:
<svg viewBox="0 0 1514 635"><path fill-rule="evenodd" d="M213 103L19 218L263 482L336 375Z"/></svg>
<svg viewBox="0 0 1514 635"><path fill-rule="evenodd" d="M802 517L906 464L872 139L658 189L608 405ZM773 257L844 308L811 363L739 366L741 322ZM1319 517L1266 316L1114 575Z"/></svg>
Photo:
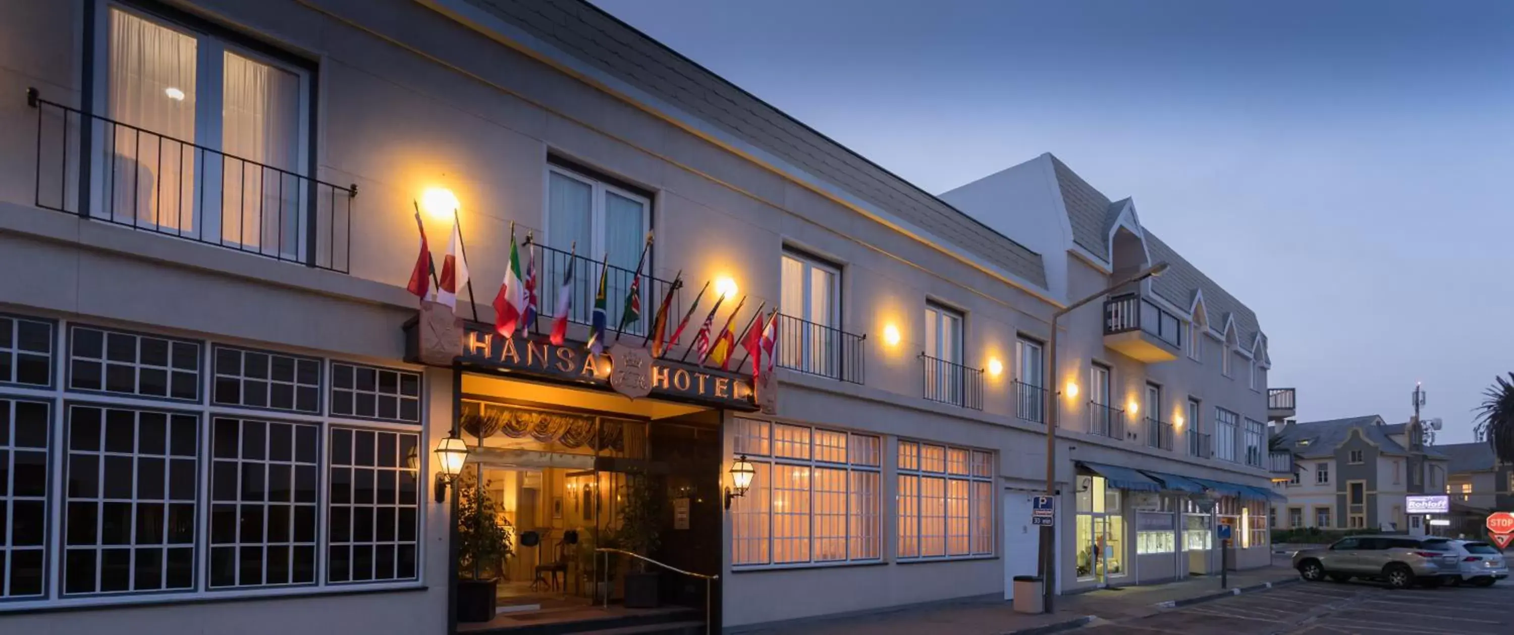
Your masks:
<svg viewBox="0 0 1514 635"><path fill-rule="evenodd" d="M182 141L195 138L197 41L111 9L107 50L109 117L150 132L109 124L100 129L111 149L101 174L107 200L100 214L191 233L195 153Z"/></svg>

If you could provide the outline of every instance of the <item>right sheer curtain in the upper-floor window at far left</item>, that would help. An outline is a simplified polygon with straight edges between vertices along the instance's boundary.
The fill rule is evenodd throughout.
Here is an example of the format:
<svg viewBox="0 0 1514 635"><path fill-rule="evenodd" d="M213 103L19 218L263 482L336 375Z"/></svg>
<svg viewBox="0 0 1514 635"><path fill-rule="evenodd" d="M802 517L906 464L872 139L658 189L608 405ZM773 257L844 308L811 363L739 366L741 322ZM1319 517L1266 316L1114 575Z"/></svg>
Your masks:
<svg viewBox="0 0 1514 635"><path fill-rule="evenodd" d="M221 152L229 156L221 241L294 256L301 238L301 182L291 176L300 161L300 77L232 52L223 64Z"/></svg>

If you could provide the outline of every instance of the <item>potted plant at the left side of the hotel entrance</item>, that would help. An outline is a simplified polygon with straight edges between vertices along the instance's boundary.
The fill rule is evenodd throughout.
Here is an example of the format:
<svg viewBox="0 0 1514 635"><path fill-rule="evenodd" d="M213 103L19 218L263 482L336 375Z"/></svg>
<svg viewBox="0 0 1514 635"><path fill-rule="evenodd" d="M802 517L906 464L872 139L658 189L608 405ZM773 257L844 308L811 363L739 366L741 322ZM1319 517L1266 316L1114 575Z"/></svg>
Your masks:
<svg viewBox="0 0 1514 635"><path fill-rule="evenodd" d="M503 568L504 558L513 555L510 533L500 521L488 483L478 479L457 486L457 621L489 621L495 615L495 594L500 579L494 568ZM484 574L489 574L484 577Z"/></svg>

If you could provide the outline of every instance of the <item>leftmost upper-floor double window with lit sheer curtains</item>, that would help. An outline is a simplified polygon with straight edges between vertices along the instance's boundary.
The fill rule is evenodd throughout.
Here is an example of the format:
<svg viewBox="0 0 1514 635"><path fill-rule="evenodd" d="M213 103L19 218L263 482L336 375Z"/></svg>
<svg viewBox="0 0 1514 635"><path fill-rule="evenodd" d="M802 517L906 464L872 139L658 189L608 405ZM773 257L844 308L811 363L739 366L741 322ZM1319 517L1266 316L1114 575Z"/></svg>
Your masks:
<svg viewBox="0 0 1514 635"><path fill-rule="evenodd" d="M238 41L109 6L91 209L279 258L306 247L310 71Z"/></svg>

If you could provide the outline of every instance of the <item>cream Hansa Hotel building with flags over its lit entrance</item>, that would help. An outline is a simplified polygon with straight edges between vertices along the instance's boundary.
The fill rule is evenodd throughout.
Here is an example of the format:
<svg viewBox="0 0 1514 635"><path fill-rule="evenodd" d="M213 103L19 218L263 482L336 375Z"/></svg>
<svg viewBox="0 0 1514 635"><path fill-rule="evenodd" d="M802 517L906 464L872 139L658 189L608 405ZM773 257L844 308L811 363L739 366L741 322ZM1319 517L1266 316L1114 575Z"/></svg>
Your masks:
<svg viewBox="0 0 1514 635"><path fill-rule="evenodd" d="M9 2L0 42L0 632L627 626L597 549L654 503L698 576L637 620L1008 597L1048 408L1058 593L1216 571L1217 524L1270 561L1258 317L1051 155L937 197L578 0ZM407 292L454 223L462 324ZM1048 380L1052 315L1158 262ZM762 380L707 315L775 315ZM457 626L478 486L507 612Z"/></svg>

